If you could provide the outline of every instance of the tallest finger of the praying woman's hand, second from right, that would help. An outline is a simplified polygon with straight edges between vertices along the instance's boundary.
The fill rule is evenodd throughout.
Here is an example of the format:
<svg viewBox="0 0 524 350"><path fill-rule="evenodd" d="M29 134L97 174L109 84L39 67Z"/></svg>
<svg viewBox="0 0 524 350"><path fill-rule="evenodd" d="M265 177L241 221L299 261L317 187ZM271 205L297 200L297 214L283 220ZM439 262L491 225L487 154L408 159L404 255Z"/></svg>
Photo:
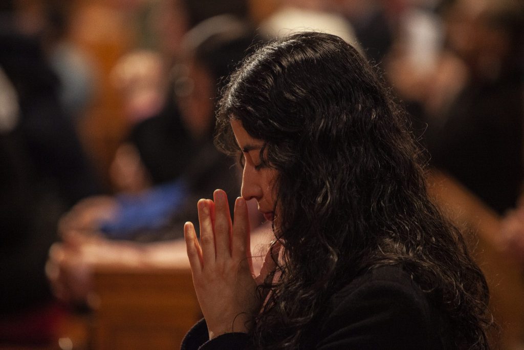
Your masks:
<svg viewBox="0 0 524 350"><path fill-rule="evenodd" d="M226 193L221 190L215 190L215 247L216 259L226 259L231 257L231 214L229 204L227 203Z"/></svg>

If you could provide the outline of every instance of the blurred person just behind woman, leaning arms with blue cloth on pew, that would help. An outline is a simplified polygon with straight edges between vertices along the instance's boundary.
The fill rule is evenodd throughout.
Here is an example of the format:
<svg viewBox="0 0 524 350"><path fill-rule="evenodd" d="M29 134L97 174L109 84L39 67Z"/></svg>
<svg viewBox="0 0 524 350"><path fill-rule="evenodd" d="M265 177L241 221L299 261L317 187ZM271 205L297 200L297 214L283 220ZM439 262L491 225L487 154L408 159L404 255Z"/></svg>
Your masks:
<svg viewBox="0 0 524 350"><path fill-rule="evenodd" d="M172 257L180 246L182 220L198 215L195 200L217 186L229 188L231 200L238 195L233 160L213 145L214 104L222 78L244 57L253 35L244 21L223 15L202 22L185 36L183 63L173 76L173 98L180 106L181 125L191 137L185 145L188 154L180 156L190 162L174 181L136 194L88 198L62 218L64 242L51 249L48 261L49 278L60 298L85 303L90 269L97 262L118 263L122 254L137 257L139 264L147 264L154 254ZM254 215L253 227L260 220Z"/></svg>

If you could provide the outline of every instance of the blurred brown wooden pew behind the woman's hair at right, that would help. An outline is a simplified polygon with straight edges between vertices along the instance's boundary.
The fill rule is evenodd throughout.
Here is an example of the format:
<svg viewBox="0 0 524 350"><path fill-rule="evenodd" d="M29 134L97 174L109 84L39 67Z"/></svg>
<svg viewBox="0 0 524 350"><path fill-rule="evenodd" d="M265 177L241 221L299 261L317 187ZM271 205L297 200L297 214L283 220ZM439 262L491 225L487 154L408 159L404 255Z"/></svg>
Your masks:
<svg viewBox="0 0 524 350"><path fill-rule="evenodd" d="M501 218L451 176L432 172L429 192L461 228L490 291L501 350L524 349L524 267L501 249Z"/></svg>

